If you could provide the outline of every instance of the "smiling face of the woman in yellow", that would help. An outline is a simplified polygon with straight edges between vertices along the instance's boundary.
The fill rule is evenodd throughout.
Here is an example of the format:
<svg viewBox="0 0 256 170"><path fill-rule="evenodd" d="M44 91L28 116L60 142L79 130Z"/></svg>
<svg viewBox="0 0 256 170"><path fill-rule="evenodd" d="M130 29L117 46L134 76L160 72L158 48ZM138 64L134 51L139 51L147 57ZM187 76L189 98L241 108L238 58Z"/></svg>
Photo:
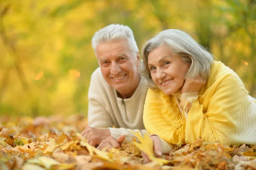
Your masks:
<svg viewBox="0 0 256 170"><path fill-rule="evenodd" d="M189 66L166 46L160 46L149 52L148 68L154 83L166 95L170 95L183 86Z"/></svg>

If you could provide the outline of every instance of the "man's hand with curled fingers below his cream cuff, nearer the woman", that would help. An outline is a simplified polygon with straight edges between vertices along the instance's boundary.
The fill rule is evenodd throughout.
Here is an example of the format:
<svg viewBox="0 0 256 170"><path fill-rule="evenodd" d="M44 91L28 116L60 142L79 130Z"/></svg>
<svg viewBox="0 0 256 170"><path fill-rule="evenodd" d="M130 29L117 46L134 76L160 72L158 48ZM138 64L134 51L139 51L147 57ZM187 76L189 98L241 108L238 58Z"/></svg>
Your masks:
<svg viewBox="0 0 256 170"><path fill-rule="evenodd" d="M125 141L125 135L119 136L119 138L117 138L117 140L115 138L109 136L108 138L104 139L99 144L99 147L97 147L97 149L102 150L105 147L108 147L107 150L110 150L112 147L119 149L124 141Z"/></svg>

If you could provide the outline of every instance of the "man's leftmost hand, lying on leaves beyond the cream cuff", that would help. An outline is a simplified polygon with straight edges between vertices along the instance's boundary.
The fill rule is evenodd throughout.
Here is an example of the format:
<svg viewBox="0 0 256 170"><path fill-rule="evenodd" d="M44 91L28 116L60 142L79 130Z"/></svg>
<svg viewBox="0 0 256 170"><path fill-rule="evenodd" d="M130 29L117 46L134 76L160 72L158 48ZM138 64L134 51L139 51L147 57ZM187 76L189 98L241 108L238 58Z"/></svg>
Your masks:
<svg viewBox="0 0 256 170"><path fill-rule="evenodd" d="M99 145L104 139L111 137L109 129L98 129L94 127L86 127L81 135L86 138L92 146Z"/></svg>

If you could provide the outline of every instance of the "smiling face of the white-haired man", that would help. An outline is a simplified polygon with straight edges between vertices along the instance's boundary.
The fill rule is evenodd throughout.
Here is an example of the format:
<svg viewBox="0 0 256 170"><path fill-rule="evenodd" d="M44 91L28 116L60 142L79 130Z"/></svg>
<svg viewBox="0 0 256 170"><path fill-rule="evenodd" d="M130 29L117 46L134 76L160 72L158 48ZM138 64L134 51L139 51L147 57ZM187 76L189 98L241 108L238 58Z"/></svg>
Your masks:
<svg viewBox="0 0 256 170"><path fill-rule="evenodd" d="M130 49L127 40L99 43L96 55L102 75L110 86L119 93L137 87L140 55Z"/></svg>

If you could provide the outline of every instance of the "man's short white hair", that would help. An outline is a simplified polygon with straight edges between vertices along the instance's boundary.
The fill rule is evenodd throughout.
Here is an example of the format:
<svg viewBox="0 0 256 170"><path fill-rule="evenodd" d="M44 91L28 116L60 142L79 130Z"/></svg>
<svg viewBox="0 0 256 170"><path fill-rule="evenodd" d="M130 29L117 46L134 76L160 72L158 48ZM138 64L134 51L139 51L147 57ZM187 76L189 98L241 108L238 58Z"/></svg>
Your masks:
<svg viewBox="0 0 256 170"><path fill-rule="evenodd" d="M134 39L134 35L131 28L124 25L111 24L104 27L103 29L100 29L93 35L92 46L93 46L95 55L96 55L96 48L99 45L99 43L110 42L113 40L122 40L122 39L127 40L130 46L130 49L134 52L134 54L139 52L139 49Z"/></svg>

